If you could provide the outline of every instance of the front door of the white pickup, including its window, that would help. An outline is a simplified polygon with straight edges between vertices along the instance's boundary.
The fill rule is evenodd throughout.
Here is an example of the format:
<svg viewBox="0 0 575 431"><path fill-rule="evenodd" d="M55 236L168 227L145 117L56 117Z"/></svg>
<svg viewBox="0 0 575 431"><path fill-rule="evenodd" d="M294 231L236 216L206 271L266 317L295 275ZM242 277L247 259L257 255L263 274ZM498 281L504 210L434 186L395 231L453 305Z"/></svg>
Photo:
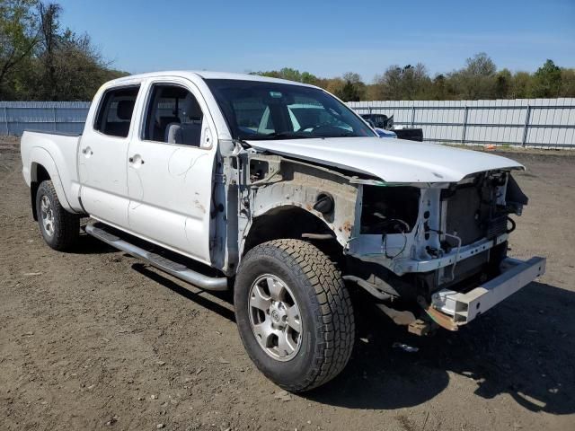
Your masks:
<svg viewBox="0 0 575 431"><path fill-rule="evenodd" d="M148 84L128 149L130 231L209 264L215 130L192 84Z"/></svg>

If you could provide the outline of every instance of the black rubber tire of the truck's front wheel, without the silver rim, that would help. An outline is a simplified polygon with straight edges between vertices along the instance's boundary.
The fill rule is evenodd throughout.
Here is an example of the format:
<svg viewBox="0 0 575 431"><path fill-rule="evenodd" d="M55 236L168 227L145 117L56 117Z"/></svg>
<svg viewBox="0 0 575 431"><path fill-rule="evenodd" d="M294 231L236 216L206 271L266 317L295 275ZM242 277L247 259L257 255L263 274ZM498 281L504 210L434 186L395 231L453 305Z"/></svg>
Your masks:
<svg viewBox="0 0 575 431"><path fill-rule="evenodd" d="M295 296L302 322L301 344L287 362L266 353L252 330L252 285L270 274L283 280ZM234 307L243 346L253 363L287 391L309 391L327 383L349 361L355 339L349 293L332 261L308 242L275 240L248 251L235 279Z"/></svg>

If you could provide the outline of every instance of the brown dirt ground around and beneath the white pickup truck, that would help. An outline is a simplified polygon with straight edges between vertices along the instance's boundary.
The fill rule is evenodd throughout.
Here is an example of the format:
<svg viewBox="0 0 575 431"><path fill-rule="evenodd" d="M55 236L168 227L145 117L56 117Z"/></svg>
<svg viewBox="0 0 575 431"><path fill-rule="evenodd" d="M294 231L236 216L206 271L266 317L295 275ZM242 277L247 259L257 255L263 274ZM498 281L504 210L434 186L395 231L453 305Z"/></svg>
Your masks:
<svg viewBox="0 0 575 431"><path fill-rule="evenodd" d="M359 301L348 367L290 395L244 353L228 295L87 236L73 252L50 250L18 143L0 143L2 429L575 429L575 157L513 157L528 168L517 180L531 204L509 253L546 256L547 274L432 338Z"/></svg>

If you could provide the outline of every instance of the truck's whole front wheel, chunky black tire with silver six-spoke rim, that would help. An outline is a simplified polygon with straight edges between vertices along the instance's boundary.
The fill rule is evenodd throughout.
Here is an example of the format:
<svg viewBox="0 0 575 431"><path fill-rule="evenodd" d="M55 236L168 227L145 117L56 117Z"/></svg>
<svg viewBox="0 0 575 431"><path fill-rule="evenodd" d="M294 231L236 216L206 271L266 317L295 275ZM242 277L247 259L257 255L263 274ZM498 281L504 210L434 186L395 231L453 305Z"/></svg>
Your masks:
<svg viewBox="0 0 575 431"><path fill-rule="evenodd" d="M271 381L308 391L340 374L355 338L349 293L332 261L299 240L264 242L235 279L243 346Z"/></svg>

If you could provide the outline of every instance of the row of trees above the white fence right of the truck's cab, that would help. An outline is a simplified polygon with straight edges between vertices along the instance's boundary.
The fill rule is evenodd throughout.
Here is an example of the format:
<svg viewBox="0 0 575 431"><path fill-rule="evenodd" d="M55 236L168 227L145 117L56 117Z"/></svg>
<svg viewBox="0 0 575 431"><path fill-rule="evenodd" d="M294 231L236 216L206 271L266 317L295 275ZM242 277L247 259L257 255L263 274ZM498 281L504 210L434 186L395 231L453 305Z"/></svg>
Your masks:
<svg viewBox="0 0 575 431"><path fill-rule="evenodd" d="M575 97L575 69L560 67L548 59L535 73L498 69L484 52L467 58L460 69L431 76L421 63L389 66L371 84L348 72L322 78L285 67L253 72L305 84L318 85L343 101L449 101L479 99L531 99Z"/></svg>

